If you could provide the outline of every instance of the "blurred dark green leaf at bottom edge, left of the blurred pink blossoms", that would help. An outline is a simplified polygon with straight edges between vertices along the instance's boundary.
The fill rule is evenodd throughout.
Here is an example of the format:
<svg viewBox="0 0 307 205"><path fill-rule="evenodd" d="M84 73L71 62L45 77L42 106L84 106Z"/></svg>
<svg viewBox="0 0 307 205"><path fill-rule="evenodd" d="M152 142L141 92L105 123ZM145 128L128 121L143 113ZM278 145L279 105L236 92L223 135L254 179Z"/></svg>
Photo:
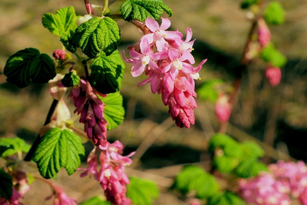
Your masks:
<svg viewBox="0 0 307 205"><path fill-rule="evenodd" d="M246 203L236 194L226 191L218 192L208 199L207 205L245 205Z"/></svg>

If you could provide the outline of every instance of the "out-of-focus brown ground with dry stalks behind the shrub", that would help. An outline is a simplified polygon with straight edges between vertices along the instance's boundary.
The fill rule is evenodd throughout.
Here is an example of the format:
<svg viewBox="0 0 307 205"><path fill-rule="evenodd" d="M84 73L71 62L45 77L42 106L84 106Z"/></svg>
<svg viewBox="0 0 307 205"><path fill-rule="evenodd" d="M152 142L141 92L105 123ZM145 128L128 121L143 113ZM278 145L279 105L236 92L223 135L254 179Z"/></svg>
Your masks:
<svg viewBox="0 0 307 205"><path fill-rule="evenodd" d="M90 2L103 4L102 0ZM165 0L173 10L170 29L178 29L185 35L185 28L192 28L192 39L196 38L192 54L196 64L208 58L196 87L212 78L222 78L226 83L223 88L232 86L234 69L240 63L251 26L246 11L240 9L240 2ZM264 159L265 163L287 160L290 156L306 162L307 149L303 142L307 137L307 1L279 2L286 10L286 23L270 26L270 30L272 42L288 58L282 68L282 81L273 88L265 78L266 64L260 59L249 64L243 74L227 134L239 141L260 143L270 156ZM21 90L6 82L2 72L6 60L18 50L34 47L52 56L53 50L61 48L58 37L42 26L41 17L46 12L54 13L60 7L70 5L75 7L77 15L86 14L82 0L0 0L0 136L17 135L28 143L35 140L52 102L48 85L31 84ZM142 33L129 22L120 20L118 23L121 51L138 41ZM207 170L210 168L207 143L219 126L214 104L197 98L195 125L180 129L168 115L168 107L161 102L161 95L152 94L148 84L137 87L143 79L145 75L133 78L130 66L126 65L121 90L126 118L117 129L108 132L108 139L119 139L126 146L125 153L137 150L134 165L127 168L127 173L157 182L161 194L154 204L184 204L166 191L184 164L197 163ZM71 100L67 102L73 111ZM81 125L77 126L82 129ZM92 144L85 146L89 153ZM85 167L86 161L83 163ZM68 177L61 171L56 183L78 202L103 195L95 180L81 179L79 174L77 171ZM34 184L22 202L51 204L52 201L45 201L49 187L36 183L39 185Z"/></svg>

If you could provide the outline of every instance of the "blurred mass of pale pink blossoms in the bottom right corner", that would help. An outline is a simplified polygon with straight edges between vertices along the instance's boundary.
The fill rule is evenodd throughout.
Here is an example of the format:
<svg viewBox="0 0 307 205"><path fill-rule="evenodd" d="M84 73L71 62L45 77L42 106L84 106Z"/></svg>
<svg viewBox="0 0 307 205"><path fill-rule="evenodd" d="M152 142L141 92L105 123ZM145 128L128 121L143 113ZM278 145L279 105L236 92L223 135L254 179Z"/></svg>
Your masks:
<svg viewBox="0 0 307 205"><path fill-rule="evenodd" d="M270 173L262 172L249 179L239 179L239 193L247 203L289 205L289 195L307 205L307 167L304 162L283 162L269 165Z"/></svg>

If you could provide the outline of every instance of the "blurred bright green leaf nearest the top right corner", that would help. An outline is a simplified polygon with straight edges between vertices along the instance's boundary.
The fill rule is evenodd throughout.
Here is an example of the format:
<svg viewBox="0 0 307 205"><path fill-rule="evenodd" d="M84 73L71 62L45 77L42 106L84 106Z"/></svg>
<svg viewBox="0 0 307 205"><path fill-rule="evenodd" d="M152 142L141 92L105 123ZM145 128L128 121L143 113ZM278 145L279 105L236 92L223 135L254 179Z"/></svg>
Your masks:
<svg viewBox="0 0 307 205"><path fill-rule="evenodd" d="M285 15L286 12L282 5L276 1L270 2L264 11L264 19L273 25L283 24L285 22Z"/></svg>

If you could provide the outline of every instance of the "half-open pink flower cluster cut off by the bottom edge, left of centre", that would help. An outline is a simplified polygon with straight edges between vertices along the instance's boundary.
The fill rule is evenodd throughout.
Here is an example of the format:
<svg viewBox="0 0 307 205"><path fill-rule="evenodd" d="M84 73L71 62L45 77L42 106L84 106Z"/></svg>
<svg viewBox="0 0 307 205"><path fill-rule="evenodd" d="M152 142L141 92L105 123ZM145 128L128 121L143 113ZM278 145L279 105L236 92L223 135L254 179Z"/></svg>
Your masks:
<svg viewBox="0 0 307 205"><path fill-rule="evenodd" d="M119 141L114 143L107 142L105 147L99 146L100 170L97 171L97 147L87 158L88 167L80 176L90 175L100 182L101 187L112 204L131 205L131 200L126 197L126 184L130 183L125 174L125 166L132 164L129 158L135 152L127 156L122 156L123 145Z"/></svg>

